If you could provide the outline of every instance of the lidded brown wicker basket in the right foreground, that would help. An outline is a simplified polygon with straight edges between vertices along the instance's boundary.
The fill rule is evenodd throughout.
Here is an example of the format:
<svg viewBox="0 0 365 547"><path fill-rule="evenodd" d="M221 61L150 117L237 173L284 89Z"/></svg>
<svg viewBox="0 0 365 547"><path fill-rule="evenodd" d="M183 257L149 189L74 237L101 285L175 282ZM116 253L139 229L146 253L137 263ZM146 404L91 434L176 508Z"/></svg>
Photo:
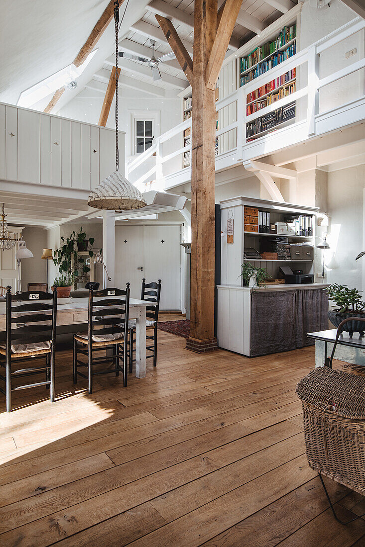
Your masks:
<svg viewBox="0 0 365 547"><path fill-rule="evenodd" d="M310 467L365 496L365 377L323 366L296 393Z"/></svg>

